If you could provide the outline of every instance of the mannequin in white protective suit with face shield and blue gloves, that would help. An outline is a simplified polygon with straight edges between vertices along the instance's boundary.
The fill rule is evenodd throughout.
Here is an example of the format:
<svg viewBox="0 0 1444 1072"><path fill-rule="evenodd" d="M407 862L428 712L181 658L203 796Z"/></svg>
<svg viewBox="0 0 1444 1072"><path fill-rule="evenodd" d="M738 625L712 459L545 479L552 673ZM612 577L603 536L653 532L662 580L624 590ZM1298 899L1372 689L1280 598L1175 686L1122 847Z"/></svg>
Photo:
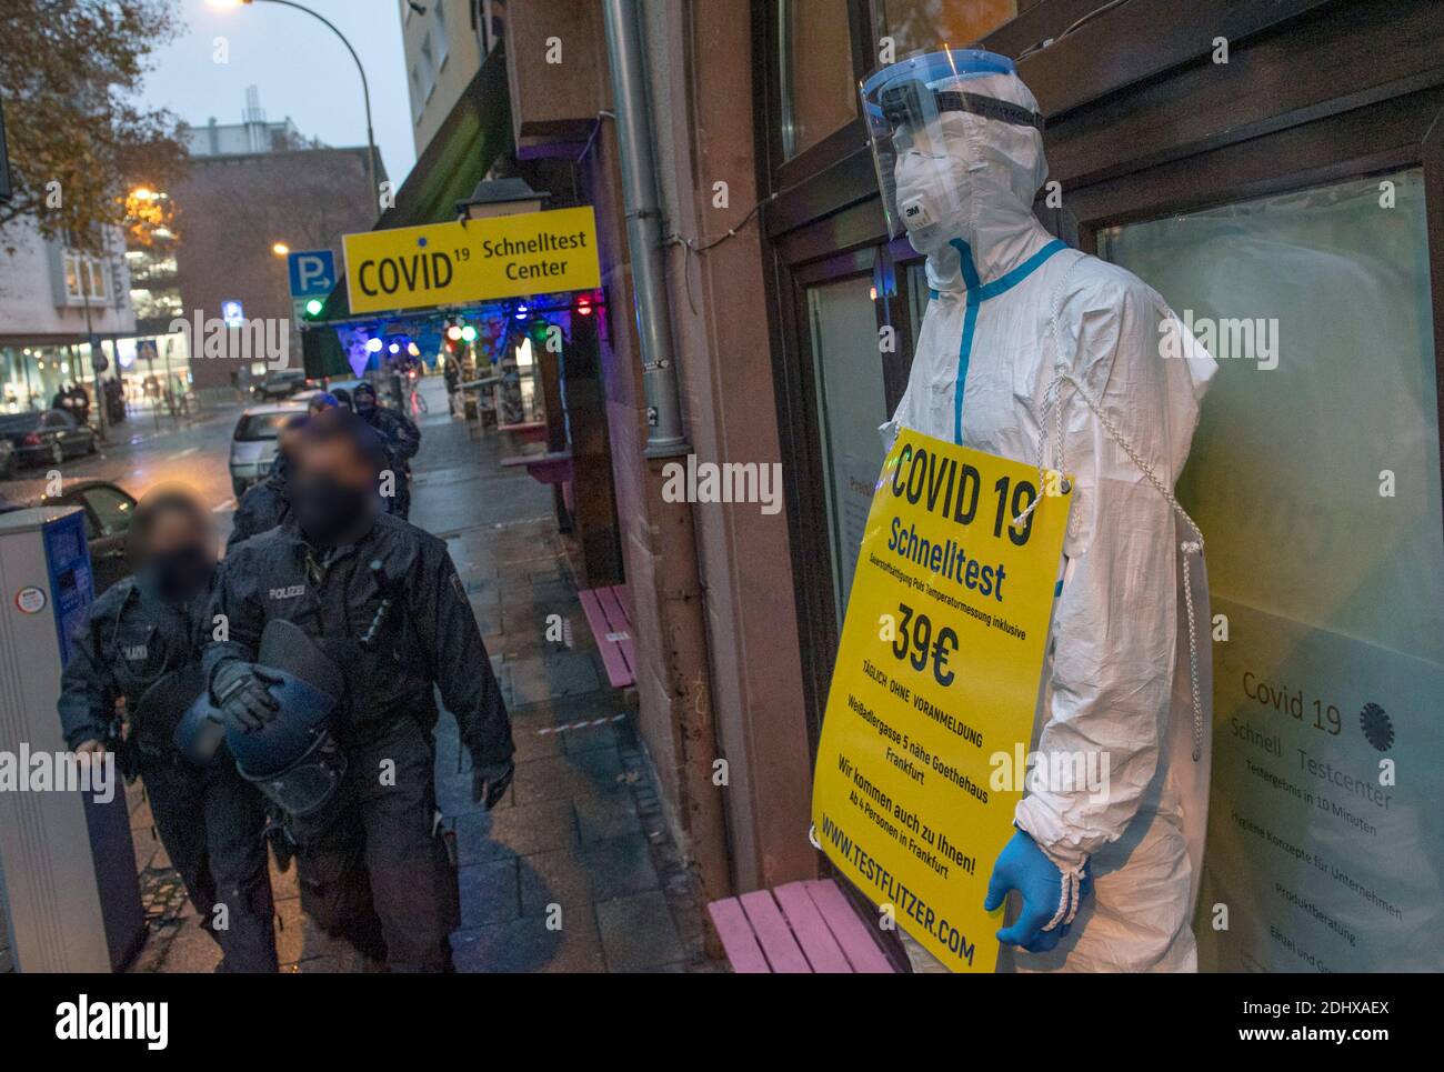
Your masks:
<svg viewBox="0 0 1444 1072"><path fill-rule="evenodd" d="M907 426L1073 480L1040 761L989 886L989 909L1022 900L1001 964L1193 971L1209 604L1173 487L1216 364L1158 293L1034 218L1043 124L1009 59L915 56L869 78L864 107L890 224L930 288L884 438ZM1106 761L1108 790L1048 784L1054 756Z"/></svg>

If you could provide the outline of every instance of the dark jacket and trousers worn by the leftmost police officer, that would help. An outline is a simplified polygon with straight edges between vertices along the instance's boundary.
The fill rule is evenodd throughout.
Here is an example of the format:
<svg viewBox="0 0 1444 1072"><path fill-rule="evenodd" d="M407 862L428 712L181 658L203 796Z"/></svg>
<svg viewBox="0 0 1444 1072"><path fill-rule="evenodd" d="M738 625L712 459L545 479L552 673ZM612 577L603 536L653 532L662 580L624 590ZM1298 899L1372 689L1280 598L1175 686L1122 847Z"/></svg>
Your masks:
<svg viewBox="0 0 1444 1072"><path fill-rule="evenodd" d="M170 863L180 873L201 925L221 946L221 971L276 971L266 806L228 761L191 766L172 743L175 718L136 719L136 705L163 675L195 666L209 627L209 592L170 602L127 576L105 591L77 630L61 679L59 714L69 747L107 741L117 701L129 732L117 758L139 773ZM159 714L159 712L155 712ZM170 712L166 712L170 714ZM215 906L225 904L217 929Z"/></svg>

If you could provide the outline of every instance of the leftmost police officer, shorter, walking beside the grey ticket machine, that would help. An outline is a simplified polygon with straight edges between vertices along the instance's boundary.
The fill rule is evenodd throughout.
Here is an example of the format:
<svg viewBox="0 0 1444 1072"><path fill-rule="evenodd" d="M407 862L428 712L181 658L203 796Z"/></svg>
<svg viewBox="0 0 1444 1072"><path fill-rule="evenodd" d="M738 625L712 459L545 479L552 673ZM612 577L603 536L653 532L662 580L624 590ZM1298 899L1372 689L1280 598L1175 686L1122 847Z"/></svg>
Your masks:
<svg viewBox="0 0 1444 1072"><path fill-rule="evenodd" d="M195 767L172 743L185 706L204 688L201 640L211 627L205 610L215 574L211 513L188 493L160 490L136 509L129 539L136 572L91 605L65 666L65 740L79 753L117 748L123 769L144 782L160 844L201 926L221 946L219 969L274 972L261 796L234 764Z"/></svg>

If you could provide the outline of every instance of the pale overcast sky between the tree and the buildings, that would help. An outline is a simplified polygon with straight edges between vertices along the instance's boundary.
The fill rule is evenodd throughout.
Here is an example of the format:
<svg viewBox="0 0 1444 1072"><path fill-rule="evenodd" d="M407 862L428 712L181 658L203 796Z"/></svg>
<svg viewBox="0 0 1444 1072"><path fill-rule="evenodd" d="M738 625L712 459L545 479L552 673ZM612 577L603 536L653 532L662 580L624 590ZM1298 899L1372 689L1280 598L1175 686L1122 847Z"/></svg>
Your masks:
<svg viewBox="0 0 1444 1072"><path fill-rule="evenodd" d="M351 42L371 82L375 143L387 175L400 185L416 162L412 107L406 94L399 0L305 0ZM351 55L321 22L303 12L257 0L214 7L182 0L186 30L156 52L144 98L192 126L211 116L240 123L245 87L256 85L267 120L286 116L306 137L329 146L365 144L361 77ZM230 43L230 62L212 59L215 38Z"/></svg>

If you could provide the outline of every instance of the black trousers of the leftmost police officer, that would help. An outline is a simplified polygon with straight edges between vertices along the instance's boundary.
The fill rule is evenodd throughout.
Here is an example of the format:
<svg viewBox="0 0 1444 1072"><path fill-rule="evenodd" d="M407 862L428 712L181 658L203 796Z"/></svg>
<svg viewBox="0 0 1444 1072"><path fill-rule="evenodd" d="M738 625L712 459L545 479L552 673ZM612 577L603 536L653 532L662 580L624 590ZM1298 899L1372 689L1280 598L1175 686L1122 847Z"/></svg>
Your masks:
<svg viewBox="0 0 1444 1072"><path fill-rule="evenodd" d="M140 761L156 832L191 903L221 946L222 972L274 972L276 929L266 864L266 803L228 758L205 769L179 757Z"/></svg>

